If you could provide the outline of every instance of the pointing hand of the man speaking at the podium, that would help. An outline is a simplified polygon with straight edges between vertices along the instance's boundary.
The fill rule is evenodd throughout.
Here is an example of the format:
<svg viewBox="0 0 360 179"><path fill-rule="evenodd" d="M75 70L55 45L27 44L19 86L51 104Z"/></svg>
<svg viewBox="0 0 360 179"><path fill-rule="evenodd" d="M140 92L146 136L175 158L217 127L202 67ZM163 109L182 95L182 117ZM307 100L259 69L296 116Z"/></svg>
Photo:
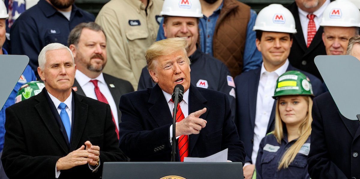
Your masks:
<svg viewBox="0 0 360 179"><path fill-rule="evenodd" d="M180 122L176 123L175 135L190 135L190 134L199 134L200 130L206 126L207 121L202 118L199 118L202 114L206 112L206 108L200 109L189 114L188 117L184 118Z"/></svg>

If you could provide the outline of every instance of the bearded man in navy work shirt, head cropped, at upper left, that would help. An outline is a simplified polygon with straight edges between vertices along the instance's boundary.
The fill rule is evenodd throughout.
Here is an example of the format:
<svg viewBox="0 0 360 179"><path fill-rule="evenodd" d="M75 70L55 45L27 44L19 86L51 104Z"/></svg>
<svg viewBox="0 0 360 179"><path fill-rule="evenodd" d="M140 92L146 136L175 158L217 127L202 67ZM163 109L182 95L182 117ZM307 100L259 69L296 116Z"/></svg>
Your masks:
<svg viewBox="0 0 360 179"><path fill-rule="evenodd" d="M94 22L95 17L77 8L74 0L40 0L24 11L10 29L11 52L27 55L37 75L37 56L49 43L67 46L70 31L82 22Z"/></svg>

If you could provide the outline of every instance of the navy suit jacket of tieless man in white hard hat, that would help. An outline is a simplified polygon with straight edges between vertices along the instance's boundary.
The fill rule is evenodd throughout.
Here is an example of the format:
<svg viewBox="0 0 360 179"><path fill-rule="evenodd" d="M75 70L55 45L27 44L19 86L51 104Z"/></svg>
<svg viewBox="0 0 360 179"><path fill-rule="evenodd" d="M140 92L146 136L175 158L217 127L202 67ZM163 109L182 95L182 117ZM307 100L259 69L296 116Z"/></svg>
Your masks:
<svg viewBox="0 0 360 179"><path fill-rule="evenodd" d="M301 71L289 64L286 71L290 70ZM255 127L256 98L260 80L260 71L261 67L255 70L243 72L242 74L235 77L237 96L235 124L238 129L240 140L244 142L246 151L246 162L251 162ZM304 71L301 72L303 72L307 77L309 77L315 96L324 93L323 84L317 77ZM275 84L273 85L275 86ZM266 133L269 133L274 129L275 107L276 100L273 105L273 110L270 114L269 124L267 126Z"/></svg>

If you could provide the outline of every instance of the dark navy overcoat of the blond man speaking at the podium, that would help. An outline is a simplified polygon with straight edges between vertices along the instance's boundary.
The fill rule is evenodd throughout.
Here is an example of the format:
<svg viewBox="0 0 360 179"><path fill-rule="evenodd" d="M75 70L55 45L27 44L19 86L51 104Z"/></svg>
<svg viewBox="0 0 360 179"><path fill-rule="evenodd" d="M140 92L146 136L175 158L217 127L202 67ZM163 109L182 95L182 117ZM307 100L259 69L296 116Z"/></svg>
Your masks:
<svg viewBox="0 0 360 179"><path fill-rule="evenodd" d="M228 160L244 162L243 142L231 120L226 94L193 85L189 89L189 114L207 108L200 116L207 121L206 127L198 135L189 135L189 156L206 157L228 148ZM172 116L161 88L155 85L122 95L119 106L120 149L132 161L170 161Z"/></svg>

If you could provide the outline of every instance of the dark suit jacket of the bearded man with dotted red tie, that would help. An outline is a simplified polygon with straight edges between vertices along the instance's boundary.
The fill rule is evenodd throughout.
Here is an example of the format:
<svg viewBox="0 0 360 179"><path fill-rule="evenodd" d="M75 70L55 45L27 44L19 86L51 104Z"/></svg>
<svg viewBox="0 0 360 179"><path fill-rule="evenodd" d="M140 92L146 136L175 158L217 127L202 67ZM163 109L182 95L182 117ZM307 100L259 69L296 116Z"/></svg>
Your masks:
<svg viewBox="0 0 360 179"><path fill-rule="evenodd" d="M105 73L103 73L103 76L104 76L104 80L105 80L106 84L108 85L110 93L114 98L116 107L117 107L117 109L119 109L119 101L120 101L121 95L134 91L134 88L132 87L132 85L129 81L126 81L126 80L123 80L123 79L120 79L120 78L117 78L117 77L114 77L114 76L111 76L111 75L108 75ZM113 84L115 87L114 88L111 87L110 84ZM81 89L79 83L76 81L76 79L74 81L73 87L74 86L76 86L76 88L77 88L77 91L76 91L77 94L86 96L84 91ZM119 123L120 123L121 122L120 110L117 111L117 116L118 116Z"/></svg>

